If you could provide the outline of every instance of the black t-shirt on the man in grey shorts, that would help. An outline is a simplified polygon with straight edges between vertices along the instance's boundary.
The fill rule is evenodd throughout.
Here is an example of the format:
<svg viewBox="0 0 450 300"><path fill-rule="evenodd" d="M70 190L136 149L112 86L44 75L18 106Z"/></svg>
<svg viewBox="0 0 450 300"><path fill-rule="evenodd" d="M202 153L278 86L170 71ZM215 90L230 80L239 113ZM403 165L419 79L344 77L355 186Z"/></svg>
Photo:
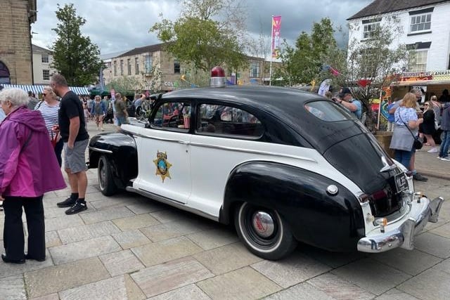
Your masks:
<svg viewBox="0 0 450 300"><path fill-rule="evenodd" d="M89 138L84 123L82 102L74 92L68 91L61 99L58 117L61 138L65 143L69 140L70 119L73 117L79 117L79 129L75 141L84 141Z"/></svg>

